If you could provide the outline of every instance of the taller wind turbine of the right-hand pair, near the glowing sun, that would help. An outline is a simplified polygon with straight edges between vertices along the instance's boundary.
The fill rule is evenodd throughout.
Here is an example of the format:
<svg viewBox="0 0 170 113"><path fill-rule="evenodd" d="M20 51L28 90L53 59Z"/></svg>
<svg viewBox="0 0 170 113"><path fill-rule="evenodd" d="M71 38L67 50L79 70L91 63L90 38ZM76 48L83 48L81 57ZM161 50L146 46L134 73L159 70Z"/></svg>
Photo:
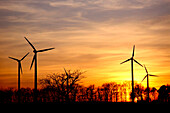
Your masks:
<svg viewBox="0 0 170 113"><path fill-rule="evenodd" d="M135 61L137 64L139 64L140 66L142 66L137 60L134 59L134 53L135 53L135 45L133 46L133 52L132 52L132 57L123 61L120 64L123 64L125 62L128 62L131 60L131 71L132 71L132 102L134 102L134 77L133 77L133 61ZM142 66L143 67L143 66Z"/></svg>

